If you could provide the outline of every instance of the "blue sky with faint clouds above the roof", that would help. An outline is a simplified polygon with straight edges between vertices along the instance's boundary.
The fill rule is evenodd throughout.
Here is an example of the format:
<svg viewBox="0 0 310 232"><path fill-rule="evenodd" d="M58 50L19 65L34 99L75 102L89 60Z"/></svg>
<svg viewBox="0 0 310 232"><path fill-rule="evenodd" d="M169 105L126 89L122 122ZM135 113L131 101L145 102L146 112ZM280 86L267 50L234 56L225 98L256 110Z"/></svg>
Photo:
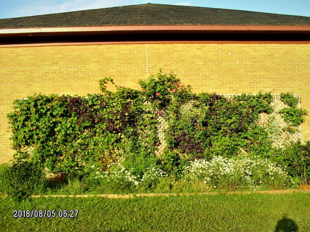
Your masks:
<svg viewBox="0 0 310 232"><path fill-rule="evenodd" d="M310 16L310 0L0 0L0 18L44 15L148 2Z"/></svg>

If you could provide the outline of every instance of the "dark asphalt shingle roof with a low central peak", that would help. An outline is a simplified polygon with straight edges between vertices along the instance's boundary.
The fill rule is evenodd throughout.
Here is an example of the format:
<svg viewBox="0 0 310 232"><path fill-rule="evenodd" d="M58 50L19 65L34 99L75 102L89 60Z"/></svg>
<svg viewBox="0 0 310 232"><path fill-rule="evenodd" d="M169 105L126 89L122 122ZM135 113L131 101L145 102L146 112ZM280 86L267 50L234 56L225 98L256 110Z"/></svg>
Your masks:
<svg viewBox="0 0 310 232"><path fill-rule="evenodd" d="M310 25L310 17L147 3L0 19L0 28L105 25Z"/></svg>

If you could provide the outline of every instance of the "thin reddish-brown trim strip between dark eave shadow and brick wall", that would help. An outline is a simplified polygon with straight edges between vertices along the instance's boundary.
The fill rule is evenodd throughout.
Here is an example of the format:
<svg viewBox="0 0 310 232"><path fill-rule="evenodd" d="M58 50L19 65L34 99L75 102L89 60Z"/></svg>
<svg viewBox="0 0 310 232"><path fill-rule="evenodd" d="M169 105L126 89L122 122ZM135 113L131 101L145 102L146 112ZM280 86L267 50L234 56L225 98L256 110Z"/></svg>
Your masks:
<svg viewBox="0 0 310 232"><path fill-rule="evenodd" d="M0 45L9 47L43 47L68 45L104 45L104 44L310 44L310 41L112 41L112 42L72 42Z"/></svg>

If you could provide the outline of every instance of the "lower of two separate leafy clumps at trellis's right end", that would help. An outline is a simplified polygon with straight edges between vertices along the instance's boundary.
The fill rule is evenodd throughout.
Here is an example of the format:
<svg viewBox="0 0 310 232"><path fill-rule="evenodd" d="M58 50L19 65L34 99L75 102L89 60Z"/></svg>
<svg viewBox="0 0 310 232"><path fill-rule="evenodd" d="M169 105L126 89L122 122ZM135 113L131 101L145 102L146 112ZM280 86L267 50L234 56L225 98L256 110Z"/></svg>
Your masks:
<svg viewBox="0 0 310 232"><path fill-rule="evenodd" d="M284 118L284 121L289 123L290 126L297 127L303 123L303 115L307 115L307 110L304 109L295 109L295 108L284 108L279 110L281 117Z"/></svg>

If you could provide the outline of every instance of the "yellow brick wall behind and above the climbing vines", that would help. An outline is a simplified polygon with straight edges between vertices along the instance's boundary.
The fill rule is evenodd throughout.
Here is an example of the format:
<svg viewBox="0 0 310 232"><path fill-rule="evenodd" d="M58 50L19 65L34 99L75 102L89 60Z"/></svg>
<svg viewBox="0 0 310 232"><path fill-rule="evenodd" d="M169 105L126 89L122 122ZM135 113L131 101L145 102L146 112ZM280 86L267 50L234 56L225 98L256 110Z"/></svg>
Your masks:
<svg viewBox="0 0 310 232"><path fill-rule="evenodd" d="M139 88L139 79L171 70L194 92L220 94L293 92L310 111L310 44L114 44L0 49L0 163L11 149L6 114L15 99L34 93L100 92L112 75L117 85ZM310 116L302 125L310 140Z"/></svg>

